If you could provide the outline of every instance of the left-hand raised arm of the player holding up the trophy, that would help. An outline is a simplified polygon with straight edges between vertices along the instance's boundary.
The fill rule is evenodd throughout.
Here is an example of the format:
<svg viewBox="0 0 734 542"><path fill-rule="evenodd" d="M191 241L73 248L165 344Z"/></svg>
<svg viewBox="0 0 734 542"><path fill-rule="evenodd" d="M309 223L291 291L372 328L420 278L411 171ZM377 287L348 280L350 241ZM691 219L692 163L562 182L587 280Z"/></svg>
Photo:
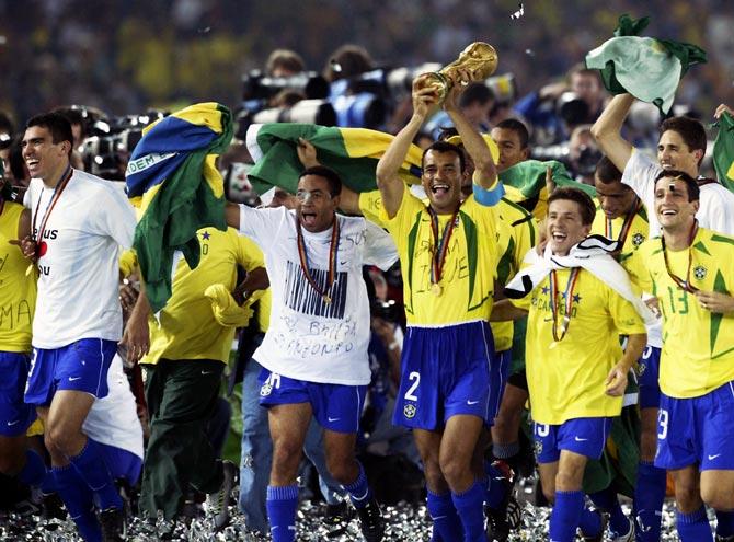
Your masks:
<svg viewBox="0 0 734 542"><path fill-rule="evenodd" d="M398 132L377 163L377 187L380 189L382 205L390 218L395 216L403 199L403 180L398 174L400 166L405 160L413 138L437 104L435 89L432 87L420 88L423 78L424 76L418 76L413 81L413 116L405 127Z"/></svg>

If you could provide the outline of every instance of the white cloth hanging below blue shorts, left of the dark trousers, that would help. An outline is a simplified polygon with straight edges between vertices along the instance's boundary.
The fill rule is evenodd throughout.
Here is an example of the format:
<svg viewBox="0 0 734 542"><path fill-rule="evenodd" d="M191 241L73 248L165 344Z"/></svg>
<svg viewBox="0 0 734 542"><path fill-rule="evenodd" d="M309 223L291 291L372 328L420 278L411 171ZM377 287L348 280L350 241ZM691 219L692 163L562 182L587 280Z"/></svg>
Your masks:
<svg viewBox="0 0 734 542"><path fill-rule="evenodd" d="M98 399L82 424L82 431L103 445L122 448L142 459L142 427L135 396L123 372L123 360L115 354L107 371L110 394Z"/></svg>

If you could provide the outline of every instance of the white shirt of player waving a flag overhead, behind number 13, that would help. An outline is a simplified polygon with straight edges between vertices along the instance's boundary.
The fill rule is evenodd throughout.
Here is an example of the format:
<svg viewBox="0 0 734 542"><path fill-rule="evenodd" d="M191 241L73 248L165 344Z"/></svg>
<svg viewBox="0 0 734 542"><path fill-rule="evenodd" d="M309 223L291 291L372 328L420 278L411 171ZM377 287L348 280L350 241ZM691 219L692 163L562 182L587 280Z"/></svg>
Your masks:
<svg viewBox="0 0 734 542"><path fill-rule="evenodd" d="M622 183L630 186L647 209L650 239L661 235L655 215L655 177L663 169L644 152L632 149L632 155L622 173ZM700 187L700 207L696 214L701 228L734 235L734 194L719 183Z"/></svg>

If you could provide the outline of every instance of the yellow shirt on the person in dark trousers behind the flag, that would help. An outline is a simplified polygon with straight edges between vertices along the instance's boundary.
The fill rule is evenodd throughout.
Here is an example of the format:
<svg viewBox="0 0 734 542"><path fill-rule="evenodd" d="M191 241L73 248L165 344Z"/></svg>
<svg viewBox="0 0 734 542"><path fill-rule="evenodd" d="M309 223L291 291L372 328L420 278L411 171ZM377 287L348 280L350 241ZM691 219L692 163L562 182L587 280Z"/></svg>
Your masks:
<svg viewBox="0 0 734 542"><path fill-rule="evenodd" d="M233 228L219 231L203 228L197 232L202 260L191 269L184 258L173 276L173 295L161 310L159 321L151 316L150 351L141 364L159 359L218 359L227 362L234 336L233 327L225 327L214 319L211 304L204 290L223 284L233 290L237 265L245 270L264 266L261 250Z"/></svg>

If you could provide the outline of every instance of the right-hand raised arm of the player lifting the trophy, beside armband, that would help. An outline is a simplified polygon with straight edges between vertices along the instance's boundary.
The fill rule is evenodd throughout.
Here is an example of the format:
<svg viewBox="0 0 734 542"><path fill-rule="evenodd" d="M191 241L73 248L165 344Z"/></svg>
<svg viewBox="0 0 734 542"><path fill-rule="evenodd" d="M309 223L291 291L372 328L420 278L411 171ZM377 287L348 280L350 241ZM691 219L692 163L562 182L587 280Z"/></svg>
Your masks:
<svg viewBox="0 0 734 542"><path fill-rule="evenodd" d="M467 81L470 80L470 73L461 72L461 74ZM466 87L457 81L446 96L444 109L451 117L454 126L461 136L463 148L474 162L474 182L484 189L491 189L497 180L497 170L486 142L459 108L458 96L465 89Z"/></svg>

